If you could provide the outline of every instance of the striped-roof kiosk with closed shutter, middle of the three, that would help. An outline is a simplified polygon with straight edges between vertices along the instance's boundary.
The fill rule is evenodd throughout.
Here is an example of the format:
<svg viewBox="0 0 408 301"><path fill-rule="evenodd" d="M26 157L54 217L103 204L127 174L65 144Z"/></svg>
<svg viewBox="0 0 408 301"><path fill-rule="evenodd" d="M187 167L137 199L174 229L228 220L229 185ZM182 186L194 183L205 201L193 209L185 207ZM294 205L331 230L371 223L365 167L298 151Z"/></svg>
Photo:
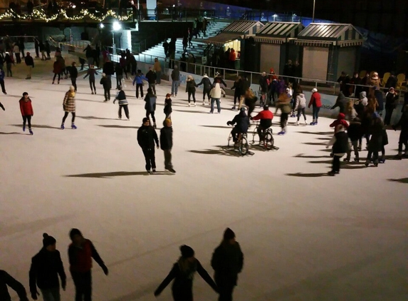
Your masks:
<svg viewBox="0 0 408 301"><path fill-rule="evenodd" d="M283 74L288 60L302 65L302 47L293 41L305 28L300 22L271 22L256 31L253 41L258 44L259 70L268 73L273 68L277 74Z"/></svg>

